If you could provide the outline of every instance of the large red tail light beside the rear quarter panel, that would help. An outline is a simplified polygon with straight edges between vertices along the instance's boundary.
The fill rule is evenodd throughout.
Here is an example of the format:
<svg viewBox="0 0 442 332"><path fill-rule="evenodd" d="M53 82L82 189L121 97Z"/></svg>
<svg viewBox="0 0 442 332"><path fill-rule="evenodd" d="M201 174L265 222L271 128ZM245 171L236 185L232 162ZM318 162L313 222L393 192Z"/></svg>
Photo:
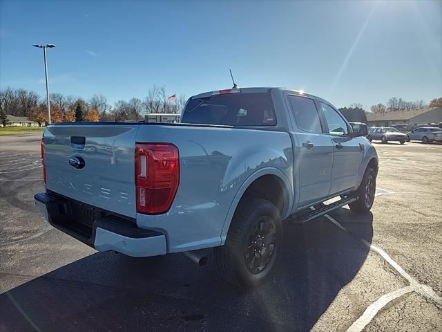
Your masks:
<svg viewBox="0 0 442 332"><path fill-rule="evenodd" d="M160 214L171 208L180 183L180 158L172 144L135 145L137 212Z"/></svg>

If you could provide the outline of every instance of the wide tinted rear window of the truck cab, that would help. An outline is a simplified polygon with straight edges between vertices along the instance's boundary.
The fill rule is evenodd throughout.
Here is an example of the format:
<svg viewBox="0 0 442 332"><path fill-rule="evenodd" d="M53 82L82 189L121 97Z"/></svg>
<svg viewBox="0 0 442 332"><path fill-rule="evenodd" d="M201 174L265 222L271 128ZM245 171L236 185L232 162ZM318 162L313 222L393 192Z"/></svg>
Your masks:
<svg viewBox="0 0 442 332"><path fill-rule="evenodd" d="M181 122L233 127L274 126L270 93L229 93L189 100Z"/></svg>

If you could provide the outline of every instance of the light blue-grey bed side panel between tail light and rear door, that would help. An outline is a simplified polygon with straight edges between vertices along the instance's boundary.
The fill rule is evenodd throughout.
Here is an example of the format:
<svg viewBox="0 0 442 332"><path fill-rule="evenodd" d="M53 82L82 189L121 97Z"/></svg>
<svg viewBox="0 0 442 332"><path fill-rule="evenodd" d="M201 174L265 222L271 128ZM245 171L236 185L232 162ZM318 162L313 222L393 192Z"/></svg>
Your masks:
<svg viewBox="0 0 442 332"><path fill-rule="evenodd" d="M290 195L285 210L291 209L293 156L286 132L155 125L140 126L136 140L179 149L180 185L171 209L137 214L137 225L166 234L169 252L220 246L242 192L259 176L280 177Z"/></svg>

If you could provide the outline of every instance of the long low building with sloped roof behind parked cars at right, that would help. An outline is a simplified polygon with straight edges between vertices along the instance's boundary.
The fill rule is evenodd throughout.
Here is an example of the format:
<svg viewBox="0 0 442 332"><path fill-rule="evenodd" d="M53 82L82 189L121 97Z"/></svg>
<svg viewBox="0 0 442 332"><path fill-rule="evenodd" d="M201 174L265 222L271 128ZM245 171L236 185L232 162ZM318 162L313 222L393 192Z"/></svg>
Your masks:
<svg viewBox="0 0 442 332"><path fill-rule="evenodd" d="M394 124L407 124L413 127L415 124L439 124L442 122L442 108L414 109L410 111L390 111L385 113L367 112L367 124L370 127L391 127Z"/></svg>

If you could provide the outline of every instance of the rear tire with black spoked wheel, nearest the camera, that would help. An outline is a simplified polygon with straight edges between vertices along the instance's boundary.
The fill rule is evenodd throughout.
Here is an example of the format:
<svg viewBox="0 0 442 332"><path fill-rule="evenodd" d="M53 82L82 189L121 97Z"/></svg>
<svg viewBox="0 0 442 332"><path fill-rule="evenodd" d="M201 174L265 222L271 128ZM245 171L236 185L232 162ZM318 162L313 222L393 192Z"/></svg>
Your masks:
<svg viewBox="0 0 442 332"><path fill-rule="evenodd" d="M244 198L233 215L226 243L213 248L214 259L227 282L256 287L271 275L281 243L282 223L276 206L265 199Z"/></svg>

